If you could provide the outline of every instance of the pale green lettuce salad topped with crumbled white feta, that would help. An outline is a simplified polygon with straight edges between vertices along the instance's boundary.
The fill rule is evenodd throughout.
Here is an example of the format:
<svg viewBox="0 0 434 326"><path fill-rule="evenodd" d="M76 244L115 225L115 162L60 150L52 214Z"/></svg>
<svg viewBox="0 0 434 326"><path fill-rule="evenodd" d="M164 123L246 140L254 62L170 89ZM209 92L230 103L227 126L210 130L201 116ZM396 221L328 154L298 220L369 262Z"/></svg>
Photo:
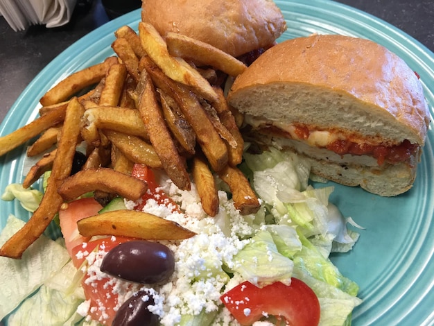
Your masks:
<svg viewBox="0 0 434 326"><path fill-rule="evenodd" d="M274 297L268 292L255 298L256 305L232 312L238 306L234 307L225 293L240 294L244 282L267 289L277 283L290 286L296 279L309 286L318 299L319 325L351 325L351 311L361 304L358 285L338 271L329 255L351 250L359 234L347 227L351 219L329 203L333 187L314 189L308 184L309 164L274 148L259 155L245 153L239 168L261 200L256 214L241 216L234 209L229 189L217 178L219 212L207 216L194 185L190 191L181 191L166 175L158 174L160 187L182 212L173 214L156 203L146 203L143 211L171 219L196 236L162 241L175 259L175 271L168 282L113 282L129 286L129 293L153 293L148 309L157 316L159 325L241 325L240 320L253 318L257 309L262 309L261 318L253 324L272 325L281 322L279 314L288 321L287 316L293 314L290 309L298 307L301 299L294 296L291 303L292 299L275 288ZM14 198L33 211L42 194L10 185L2 199ZM134 207L128 200L121 202L127 209ZM0 245L23 224L19 216L9 216ZM89 272L90 263L87 268ZM104 319L98 322L89 318L89 298L81 283L86 271L74 267L62 237L53 240L43 235L19 260L0 257L0 273L0 320L6 325L104 323ZM267 307L270 311L264 310Z"/></svg>

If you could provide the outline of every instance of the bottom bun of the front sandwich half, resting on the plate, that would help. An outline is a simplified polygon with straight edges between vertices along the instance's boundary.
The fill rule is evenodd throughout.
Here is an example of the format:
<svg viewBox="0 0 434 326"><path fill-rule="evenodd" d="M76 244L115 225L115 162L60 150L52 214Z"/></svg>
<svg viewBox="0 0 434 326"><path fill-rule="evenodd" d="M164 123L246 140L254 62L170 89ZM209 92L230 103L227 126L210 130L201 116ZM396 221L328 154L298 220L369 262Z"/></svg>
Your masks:
<svg viewBox="0 0 434 326"><path fill-rule="evenodd" d="M379 196L391 197L403 194L413 187L416 178L419 151L415 157L411 157L409 160L409 162L416 162L416 164L402 162L372 166L372 164L365 164L372 162L372 160L367 159L368 157L347 155L348 157L342 158L342 160L330 160L336 155L329 151L330 155L324 156L324 149L322 148L309 148L307 151L305 145L297 146L300 145L298 144L299 141L278 137L261 137L260 142L264 144L265 139L267 139L266 143L271 146L293 151L308 160L311 164L311 173L341 185L360 186ZM315 155L316 153L319 155Z"/></svg>

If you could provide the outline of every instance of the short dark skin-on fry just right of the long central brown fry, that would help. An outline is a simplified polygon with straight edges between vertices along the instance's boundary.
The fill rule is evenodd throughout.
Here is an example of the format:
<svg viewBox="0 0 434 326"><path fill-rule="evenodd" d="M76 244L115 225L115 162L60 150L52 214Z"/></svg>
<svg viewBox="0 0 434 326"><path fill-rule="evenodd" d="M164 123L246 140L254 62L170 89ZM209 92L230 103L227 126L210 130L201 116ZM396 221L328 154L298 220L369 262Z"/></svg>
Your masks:
<svg viewBox="0 0 434 326"><path fill-rule="evenodd" d="M180 143L182 148L191 155L195 153L196 135L184 114L182 114L179 105L164 93L161 89L159 92L160 102L162 103L162 112L168 128L171 130L173 137Z"/></svg>

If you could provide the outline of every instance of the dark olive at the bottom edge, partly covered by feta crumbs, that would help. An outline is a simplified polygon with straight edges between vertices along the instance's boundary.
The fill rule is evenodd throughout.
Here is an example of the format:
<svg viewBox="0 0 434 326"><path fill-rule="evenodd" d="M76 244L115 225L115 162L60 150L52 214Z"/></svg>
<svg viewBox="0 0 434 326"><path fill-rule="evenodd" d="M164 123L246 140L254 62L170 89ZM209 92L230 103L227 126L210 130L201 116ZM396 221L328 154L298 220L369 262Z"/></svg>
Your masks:
<svg viewBox="0 0 434 326"><path fill-rule="evenodd" d="M112 326L159 325L158 316L148 310L148 306L153 304L154 299L147 291L134 293L116 312Z"/></svg>

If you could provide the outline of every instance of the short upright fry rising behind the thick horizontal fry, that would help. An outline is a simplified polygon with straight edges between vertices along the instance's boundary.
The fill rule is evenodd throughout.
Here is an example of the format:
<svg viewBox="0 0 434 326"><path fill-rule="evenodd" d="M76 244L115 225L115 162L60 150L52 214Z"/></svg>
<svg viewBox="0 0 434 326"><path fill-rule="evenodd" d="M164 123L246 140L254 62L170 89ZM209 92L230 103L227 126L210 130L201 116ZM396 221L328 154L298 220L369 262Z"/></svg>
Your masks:
<svg viewBox="0 0 434 326"><path fill-rule="evenodd" d="M118 63L110 67L105 76L105 84L101 90L99 105L116 106L119 104L126 76L127 69L125 65Z"/></svg>

